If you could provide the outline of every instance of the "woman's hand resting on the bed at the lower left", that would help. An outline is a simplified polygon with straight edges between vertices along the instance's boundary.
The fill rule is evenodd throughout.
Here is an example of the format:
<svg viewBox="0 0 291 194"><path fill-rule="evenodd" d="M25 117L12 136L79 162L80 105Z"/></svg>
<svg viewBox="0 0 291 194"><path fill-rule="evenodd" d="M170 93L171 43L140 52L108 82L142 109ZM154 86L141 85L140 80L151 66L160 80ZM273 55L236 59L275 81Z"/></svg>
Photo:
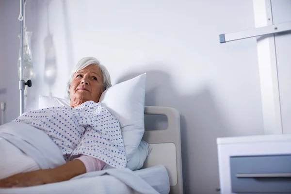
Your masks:
<svg viewBox="0 0 291 194"><path fill-rule="evenodd" d="M51 181L47 170L36 170L28 173L19 173L0 180L0 187L29 187L42 185Z"/></svg>

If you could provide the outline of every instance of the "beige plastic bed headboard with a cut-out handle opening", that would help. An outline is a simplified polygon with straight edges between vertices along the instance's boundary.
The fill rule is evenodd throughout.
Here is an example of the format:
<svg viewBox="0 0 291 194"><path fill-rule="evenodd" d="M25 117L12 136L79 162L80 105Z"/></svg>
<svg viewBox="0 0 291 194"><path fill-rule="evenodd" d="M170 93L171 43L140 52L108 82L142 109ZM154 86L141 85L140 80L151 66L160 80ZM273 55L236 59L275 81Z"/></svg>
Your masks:
<svg viewBox="0 0 291 194"><path fill-rule="evenodd" d="M146 106L145 114L165 115L168 128L145 131L143 140L152 150L143 168L164 165L170 178L170 194L183 194L180 114L176 109L158 106Z"/></svg>

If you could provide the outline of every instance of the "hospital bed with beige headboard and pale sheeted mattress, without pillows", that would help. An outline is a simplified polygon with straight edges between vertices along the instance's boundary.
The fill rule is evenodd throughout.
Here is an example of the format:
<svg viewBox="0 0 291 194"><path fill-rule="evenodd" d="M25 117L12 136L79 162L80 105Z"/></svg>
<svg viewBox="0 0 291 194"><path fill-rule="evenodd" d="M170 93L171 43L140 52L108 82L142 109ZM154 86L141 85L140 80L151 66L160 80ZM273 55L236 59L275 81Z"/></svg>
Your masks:
<svg viewBox="0 0 291 194"><path fill-rule="evenodd" d="M168 107L145 107L145 114L165 115L168 127L164 130L146 129L143 140L151 147L144 166L134 174L147 185L150 185L160 194L183 194L180 118L177 110ZM113 169L114 170L114 169ZM128 170L129 173L132 173ZM102 170L105 171L106 170ZM20 189L1 190L0 194L135 194L130 185L124 184L120 179L126 178L127 171L117 176L107 173L96 176L102 171L81 175L82 178L34 186ZM115 171L108 171L115 172ZM119 171L117 171L119 172ZM95 173L95 174L94 174ZM119 176L119 179L118 179ZM116 178L117 177L117 178ZM138 183L133 183L139 185ZM141 184L142 185L142 184ZM145 192L146 193L146 192Z"/></svg>

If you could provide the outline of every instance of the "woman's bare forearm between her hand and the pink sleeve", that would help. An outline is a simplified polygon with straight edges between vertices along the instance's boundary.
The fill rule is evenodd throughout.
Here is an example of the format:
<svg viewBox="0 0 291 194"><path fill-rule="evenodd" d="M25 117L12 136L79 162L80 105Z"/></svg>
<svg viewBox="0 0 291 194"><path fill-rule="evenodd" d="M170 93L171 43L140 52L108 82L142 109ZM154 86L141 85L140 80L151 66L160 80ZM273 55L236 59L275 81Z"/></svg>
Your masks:
<svg viewBox="0 0 291 194"><path fill-rule="evenodd" d="M73 160L47 171L51 178L50 182L61 182L86 173L86 167L80 160Z"/></svg>

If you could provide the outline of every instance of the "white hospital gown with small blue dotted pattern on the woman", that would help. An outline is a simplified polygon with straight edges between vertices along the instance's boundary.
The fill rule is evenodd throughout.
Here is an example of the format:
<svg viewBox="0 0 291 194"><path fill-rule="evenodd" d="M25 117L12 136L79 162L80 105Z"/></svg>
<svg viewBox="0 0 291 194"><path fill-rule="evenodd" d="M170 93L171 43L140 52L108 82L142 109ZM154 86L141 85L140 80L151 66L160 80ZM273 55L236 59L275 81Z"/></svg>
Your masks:
<svg viewBox="0 0 291 194"><path fill-rule="evenodd" d="M84 154L115 168L126 166L119 122L99 102L29 111L14 121L44 131L62 150L66 162Z"/></svg>

